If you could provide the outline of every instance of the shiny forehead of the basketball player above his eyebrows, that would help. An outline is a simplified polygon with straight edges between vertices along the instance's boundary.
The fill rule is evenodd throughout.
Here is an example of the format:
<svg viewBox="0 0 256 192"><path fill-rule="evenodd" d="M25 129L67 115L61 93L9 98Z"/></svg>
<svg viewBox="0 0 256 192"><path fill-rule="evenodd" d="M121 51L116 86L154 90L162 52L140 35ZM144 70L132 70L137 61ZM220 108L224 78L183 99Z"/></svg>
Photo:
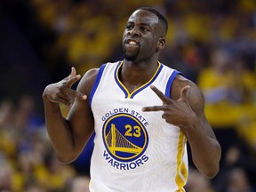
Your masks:
<svg viewBox="0 0 256 192"><path fill-rule="evenodd" d="M158 23L158 18L153 12L146 10L137 10L132 13L128 22L143 23L155 26Z"/></svg>

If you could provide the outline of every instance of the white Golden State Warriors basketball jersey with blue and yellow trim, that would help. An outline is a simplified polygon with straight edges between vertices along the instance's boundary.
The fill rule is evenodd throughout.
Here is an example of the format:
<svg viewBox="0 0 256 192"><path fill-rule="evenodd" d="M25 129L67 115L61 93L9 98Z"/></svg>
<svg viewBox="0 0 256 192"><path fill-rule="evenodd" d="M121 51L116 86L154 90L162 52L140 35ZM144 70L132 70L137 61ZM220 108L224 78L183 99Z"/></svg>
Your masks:
<svg viewBox="0 0 256 192"><path fill-rule="evenodd" d="M154 84L170 97L178 71L158 63L156 73L133 92L118 78L123 62L101 66L92 87L90 104L95 122L91 161L91 192L184 191L188 179L186 138L180 128L167 124Z"/></svg>

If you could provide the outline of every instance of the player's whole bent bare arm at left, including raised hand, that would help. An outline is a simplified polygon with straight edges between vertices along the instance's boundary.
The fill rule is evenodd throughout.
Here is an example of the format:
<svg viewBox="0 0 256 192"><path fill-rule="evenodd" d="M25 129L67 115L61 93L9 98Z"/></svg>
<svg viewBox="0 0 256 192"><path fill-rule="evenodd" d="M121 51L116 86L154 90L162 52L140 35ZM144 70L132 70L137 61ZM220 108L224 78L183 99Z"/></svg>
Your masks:
<svg viewBox="0 0 256 192"><path fill-rule="evenodd" d="M98 69L88 71L77 86L71 89L81 76L72 68L70 75L56 84L49 84L43 93L47 132L52 147L62 163L70 163L82 152L93 132L93 116L86 100ZM71 106L67 119L60 112L59 103Z"/></svg>

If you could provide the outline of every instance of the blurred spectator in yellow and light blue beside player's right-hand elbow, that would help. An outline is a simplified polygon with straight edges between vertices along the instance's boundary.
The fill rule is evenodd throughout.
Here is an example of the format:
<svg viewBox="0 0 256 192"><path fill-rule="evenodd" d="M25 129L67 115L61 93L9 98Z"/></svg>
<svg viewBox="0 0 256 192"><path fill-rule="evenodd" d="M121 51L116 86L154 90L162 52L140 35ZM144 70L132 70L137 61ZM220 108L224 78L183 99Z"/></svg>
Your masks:
<svg viewBox="0 0 256 192"><path fill-rule="evenodd" d="M255 76L246 68L244 57L220 48L212 52L211 65L201 70L197 84L204 92L205 116L224 155L242 139L237 127L253 114Z"/></svg>

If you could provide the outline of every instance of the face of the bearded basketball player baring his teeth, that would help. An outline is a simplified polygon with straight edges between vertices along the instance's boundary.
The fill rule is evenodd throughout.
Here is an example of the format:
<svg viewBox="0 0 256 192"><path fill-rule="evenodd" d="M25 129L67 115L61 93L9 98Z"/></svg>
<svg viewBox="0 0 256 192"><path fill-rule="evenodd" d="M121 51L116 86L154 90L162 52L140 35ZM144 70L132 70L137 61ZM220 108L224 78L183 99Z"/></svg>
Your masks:
<svg viewBox="0 0 256 192"><path fill-rule="evenodd" d="M123 36L126 60L148 59L156 52L158 25L158 18L152 12L139 10L132 13Z"/></svg>

